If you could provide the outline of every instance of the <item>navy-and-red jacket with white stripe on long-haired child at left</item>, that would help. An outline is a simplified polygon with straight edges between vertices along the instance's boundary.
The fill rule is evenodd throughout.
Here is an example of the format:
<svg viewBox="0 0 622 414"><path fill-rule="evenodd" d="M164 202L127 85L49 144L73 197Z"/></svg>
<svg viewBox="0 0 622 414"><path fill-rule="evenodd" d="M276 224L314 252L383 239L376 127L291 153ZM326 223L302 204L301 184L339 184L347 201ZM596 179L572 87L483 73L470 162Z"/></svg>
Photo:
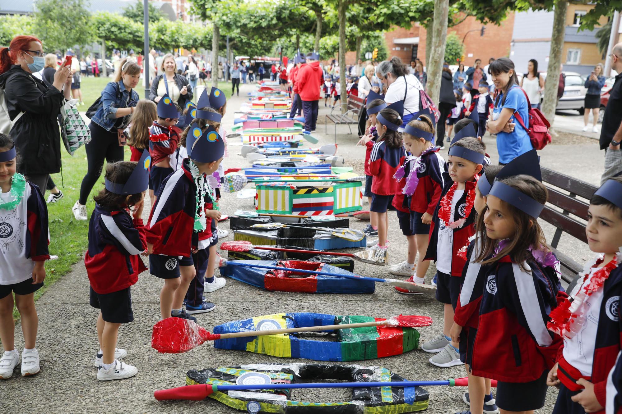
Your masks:
<svg viewBox="0 0 622 414"><path fill-rule="evenodd" d="M147 267L139 254L147 240L141 218L132 219L128 210L95 205L88 224L86 274L96 293L119 292L134 285Z"/></svg>

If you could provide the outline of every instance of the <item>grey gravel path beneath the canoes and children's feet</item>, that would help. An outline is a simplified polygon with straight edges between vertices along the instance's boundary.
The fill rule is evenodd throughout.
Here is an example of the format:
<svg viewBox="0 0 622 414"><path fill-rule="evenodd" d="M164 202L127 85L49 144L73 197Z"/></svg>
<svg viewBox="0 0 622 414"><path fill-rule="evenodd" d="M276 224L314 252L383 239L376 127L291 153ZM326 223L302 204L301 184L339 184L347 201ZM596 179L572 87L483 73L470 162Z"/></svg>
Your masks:
<svg viewBox="0 0 622 414"><path fill-rule="evenodd" d="M226 87L226 86L225 86ZM253 85L240 85L245 95L253 90ZM239 108L243 98L232 98L228 104L230 114L226 116L225 127L231 130L233 111ZM327 109L320 106L320 119ZM345 126L338 131L347 132ZM332 136L325 136L323 127L318 127L316 136L320 144L333 142ZM581 138L581 137L580 137ZM572 144L562 142L549 145L542 151L541 163L545 167L560 170L588 182L597 184L600 181L603 158L598 151L597 142L588 139L572 138ZM364 151L356 147L356 137L346 134L337 136L340 144L338 154L345 157L347 164L355 167L356 172L363 172ZM494 140L485 137L488 153L496 162ZM231 146L230 157L225 160L225 168L235 165L247 165L246 160L236 153L238 149ZM447 154L447 149L443 150ZM589 168L586 168L588 167ZM236 195L225 194L221 201L223 213L233 214L238 209L251 209L252 199L238 199ZM147 211L145 213L147 215ZM406 239L401 236L397 218L390 215L389 224L391 245L389 247L390 262L396 263L404 259ZM228 224L222 223L228 228ZM351 227L363 229L365 222L351 221ZM550 228L546 228L547 236L552 236ZM225 240L232 240L229 236ZM578 241L570 240L564 235L560 249L571 252L572 257L585 260L590 257L587 247ZM86 250L86 246L85 246ZM434 272L434 265L429 274ZM374 277L386 277L387 271L382 267L368 264L356 264L356 272ZM37 348L41 356L41 372L34 377L22 378L19 369L11 380L1 383L1 413L23 413L42 410L45 413L234 413L231 408L208 399L203 402L165 402L154 400L153 391L183 385L185 373L189 369L205 367L234 366L256 362L286 362L276 357L262 356L241 351L214 349L206 343L185 354L158 354L151 348L151 329L159 318L159 290L162 282L144 273L139 282L132 287L134 300L133 323L124 325L119 332L118 346L128 349L128 357L124 361L135 365L139 374L132 379L121 381L100 382L96 379L93 357L98 349L95 331L97 311L88 305L88 278L83 264L75 265L73 271L51 287L37 302L39 312L39 341ZM198 315L198 322L208 330L215 324L230 320L267 315L283 311L313 311L323 313L391 316L419 314L434 318L429 328L421 328L421 341L427 341L442 329L442 305L433 298L399 295L390 286L377 283L373 295L302 295L294 293L269 293L241 282L228 279L225 288L206 295L208 300L216 303L212 313ZM23 347L23 338L19 325L16 329L16 342L19 349ZM434 380L465 375L463 367L441 369L427 361L430 354L412 351L402 356L387 357L374 361L361 361L362 365L379 365L388 367L406 379ZM494 357L494 356L491 356ZM294 362L292 360L292 362ZM302 361L305 362L305 361ZM430 406L427 412L454 413L466 410L462 402L465 389L448 387L427 387L430 392ZM294 392L295 396L303 392ZM333 393L328 390L304 391L304 398L322 401L335 398L345 393ZM557 392L550 389L547 403L538 413L550 413Z"/></svg>

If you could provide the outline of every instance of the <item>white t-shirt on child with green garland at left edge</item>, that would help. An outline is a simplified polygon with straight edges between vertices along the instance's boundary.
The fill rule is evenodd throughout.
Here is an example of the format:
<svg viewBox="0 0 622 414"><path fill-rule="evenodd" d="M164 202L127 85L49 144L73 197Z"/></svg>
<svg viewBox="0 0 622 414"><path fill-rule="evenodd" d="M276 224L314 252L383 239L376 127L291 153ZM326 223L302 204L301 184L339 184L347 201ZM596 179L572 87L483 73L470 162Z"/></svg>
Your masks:
<svg viewBox="0 0 622 414"><path fill-rule="evenodd" d="M32 277L35 262L26 257L27 200L30 185L26 184L24 198L11 211L0 209L0 285L24 282ZM12 201L11 191L0 193L2 203Z"/></svg>

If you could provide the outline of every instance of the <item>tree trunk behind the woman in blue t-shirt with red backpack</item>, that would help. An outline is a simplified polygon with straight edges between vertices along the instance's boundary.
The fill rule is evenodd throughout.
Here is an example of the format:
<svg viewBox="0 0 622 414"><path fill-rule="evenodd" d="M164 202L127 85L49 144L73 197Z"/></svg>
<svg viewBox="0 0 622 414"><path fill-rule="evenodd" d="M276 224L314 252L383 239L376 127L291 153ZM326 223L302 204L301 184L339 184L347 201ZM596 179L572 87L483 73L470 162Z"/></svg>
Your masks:
<svg viewBox="0 0 622 414"><path fill-rule="evenodd" d="M550 39L549 67L547 68L546 83L544 85L544 101L542 101L542 113L549 120L551 127L553 126L555 107L557 106L557 88L559 87L567 10L568 2L559 1L555 4L553 12L553 33Z"/></svg>

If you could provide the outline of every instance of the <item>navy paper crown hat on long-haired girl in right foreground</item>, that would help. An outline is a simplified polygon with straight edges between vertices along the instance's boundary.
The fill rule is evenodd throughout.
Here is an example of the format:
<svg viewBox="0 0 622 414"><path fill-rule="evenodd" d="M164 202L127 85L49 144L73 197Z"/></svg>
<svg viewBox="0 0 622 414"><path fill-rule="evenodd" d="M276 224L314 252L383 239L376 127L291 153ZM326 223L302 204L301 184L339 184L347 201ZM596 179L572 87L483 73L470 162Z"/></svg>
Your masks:
<svg viewBox="0 0 622 414"><path fill-rule="evenodd" d="M521 160L522 167L520 173L531 175L531 177L536 178L538 181L542 181L540 160L536 155L536 150L531 150L529 152L531 152L532 154L526 156L524 159ZM529 163L526 162L527 160L529 161ZM501 174L504 169L505 167L501 171L499 171L499 174ZM510 167L510 169L506 173L514 174L514 172L516 171L518 171L517 164ZM542 209L544 208L544 204L540 204L538 201L531 198L531 196L528 196L525 193L522 193L522 191L516 190L516 188L500 181L503 178L508 177L512 177L512 175L505 175L504 177L499 177L499 175L497 175L497 177L494 178L493 186L490 189L488 195L500 198L506 203L518 208L522 212L529 214L529 216L532 216L533 218L538 218L538 216L540 216L540 213L542 212Z"/></svg>

